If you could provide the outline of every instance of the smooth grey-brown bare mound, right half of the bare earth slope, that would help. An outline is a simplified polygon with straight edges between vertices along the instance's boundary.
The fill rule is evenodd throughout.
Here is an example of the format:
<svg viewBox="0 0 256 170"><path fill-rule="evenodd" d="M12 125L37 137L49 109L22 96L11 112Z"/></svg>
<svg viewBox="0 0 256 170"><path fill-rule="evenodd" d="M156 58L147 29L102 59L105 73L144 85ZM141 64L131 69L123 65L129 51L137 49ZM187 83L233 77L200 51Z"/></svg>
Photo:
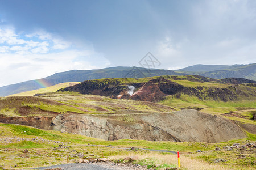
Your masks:
<svg viewBox="0 0 256 170"><path fill-rule="evenodd" d="M181 141L221 142L246 137L236 122L193 109L172 113L138 114L133 118L135 121L160 126Z"/></svg>

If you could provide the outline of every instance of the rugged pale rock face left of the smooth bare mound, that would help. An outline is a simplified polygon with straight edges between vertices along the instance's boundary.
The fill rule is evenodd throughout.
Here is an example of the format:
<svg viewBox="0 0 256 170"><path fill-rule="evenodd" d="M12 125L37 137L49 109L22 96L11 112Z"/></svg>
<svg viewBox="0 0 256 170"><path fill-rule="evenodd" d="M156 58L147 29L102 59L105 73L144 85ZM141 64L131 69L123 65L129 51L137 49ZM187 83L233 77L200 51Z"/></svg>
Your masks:
<svg viewBox="0 0 256 170"><path fill-rule="evenodd" d="M158 126L125 122L81 114L61 114L52 120L53 130L67 131L105 140L143 139L179 141Z"/></svg>

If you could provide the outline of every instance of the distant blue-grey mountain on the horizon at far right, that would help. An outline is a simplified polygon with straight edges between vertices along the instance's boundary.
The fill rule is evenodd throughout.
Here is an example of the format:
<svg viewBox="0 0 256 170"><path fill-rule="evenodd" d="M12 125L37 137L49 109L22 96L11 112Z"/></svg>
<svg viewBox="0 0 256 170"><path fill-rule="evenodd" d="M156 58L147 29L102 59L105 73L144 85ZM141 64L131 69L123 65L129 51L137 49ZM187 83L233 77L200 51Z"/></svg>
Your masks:
<svg viewBox="0 0 256 170"><path fill-rule="evenodd" d="M256 63L249 65L194 65L184 69L174 70L184 74L196 74L214 79L246 78L256 80Z"/></svg>

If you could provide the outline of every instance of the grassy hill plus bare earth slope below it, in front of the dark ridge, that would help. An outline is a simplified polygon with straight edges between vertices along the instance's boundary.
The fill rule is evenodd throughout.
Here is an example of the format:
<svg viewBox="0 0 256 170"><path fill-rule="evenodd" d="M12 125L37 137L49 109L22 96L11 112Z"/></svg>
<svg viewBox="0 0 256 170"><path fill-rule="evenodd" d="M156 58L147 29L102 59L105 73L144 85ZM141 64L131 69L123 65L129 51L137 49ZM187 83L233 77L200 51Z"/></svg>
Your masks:
<svg viewBox="0 0 256 170"><path fill-rule="evenodd" d="M1 123L106 140L220 142L256 133L253 130L255 121L247 117L240 118L246 123L233 121L235 114L216 116L192 109L174 112L174 108L157 103L103 96L52 94L4 97L0 107Z"/></svg>

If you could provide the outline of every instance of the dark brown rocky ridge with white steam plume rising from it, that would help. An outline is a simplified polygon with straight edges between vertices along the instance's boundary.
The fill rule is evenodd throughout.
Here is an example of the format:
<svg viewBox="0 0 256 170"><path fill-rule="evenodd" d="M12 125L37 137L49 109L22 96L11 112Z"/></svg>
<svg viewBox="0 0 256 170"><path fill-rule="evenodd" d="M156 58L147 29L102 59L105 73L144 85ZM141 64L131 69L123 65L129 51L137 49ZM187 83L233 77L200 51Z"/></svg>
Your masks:
<svg viewBox="0 0 256 170"><path fill-rule="evenodd" d="M216 83L212 86L200 84L199 86L184 86L176 83L176 80L187 80L199 83ZM136 83L134 83L136 82ZM242 83L247 83L243 85ZM226 86L218 87L218 84ZM133 87L130 93L129 87ZM256 97L256 84L252 80L241 78L211 79L203 76L160 76L150 80L136 79L100 79L87 80L75 86L58 90L58 92L79 92L80 94L92 94L109 96L113 99L132 99L143 101L160 101L164 96L180 95L196 96L200 100L234 101L238 98Z"/></svg>

